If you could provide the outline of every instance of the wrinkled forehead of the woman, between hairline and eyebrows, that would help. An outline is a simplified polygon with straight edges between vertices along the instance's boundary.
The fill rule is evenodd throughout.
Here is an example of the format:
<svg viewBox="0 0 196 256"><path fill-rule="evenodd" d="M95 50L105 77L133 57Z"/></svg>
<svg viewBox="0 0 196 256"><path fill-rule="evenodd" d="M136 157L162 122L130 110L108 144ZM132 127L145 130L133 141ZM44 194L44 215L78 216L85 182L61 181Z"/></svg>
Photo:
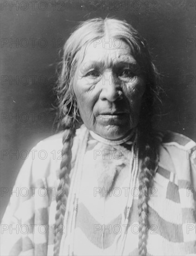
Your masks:
<svg viewBox="0 0 196 256"><path fill-rule="evenodd" d="M96 64L111 67L119 62L136 64L131 55L131 47L123 40L96 39L85 49L82 66Z"/></svg>

